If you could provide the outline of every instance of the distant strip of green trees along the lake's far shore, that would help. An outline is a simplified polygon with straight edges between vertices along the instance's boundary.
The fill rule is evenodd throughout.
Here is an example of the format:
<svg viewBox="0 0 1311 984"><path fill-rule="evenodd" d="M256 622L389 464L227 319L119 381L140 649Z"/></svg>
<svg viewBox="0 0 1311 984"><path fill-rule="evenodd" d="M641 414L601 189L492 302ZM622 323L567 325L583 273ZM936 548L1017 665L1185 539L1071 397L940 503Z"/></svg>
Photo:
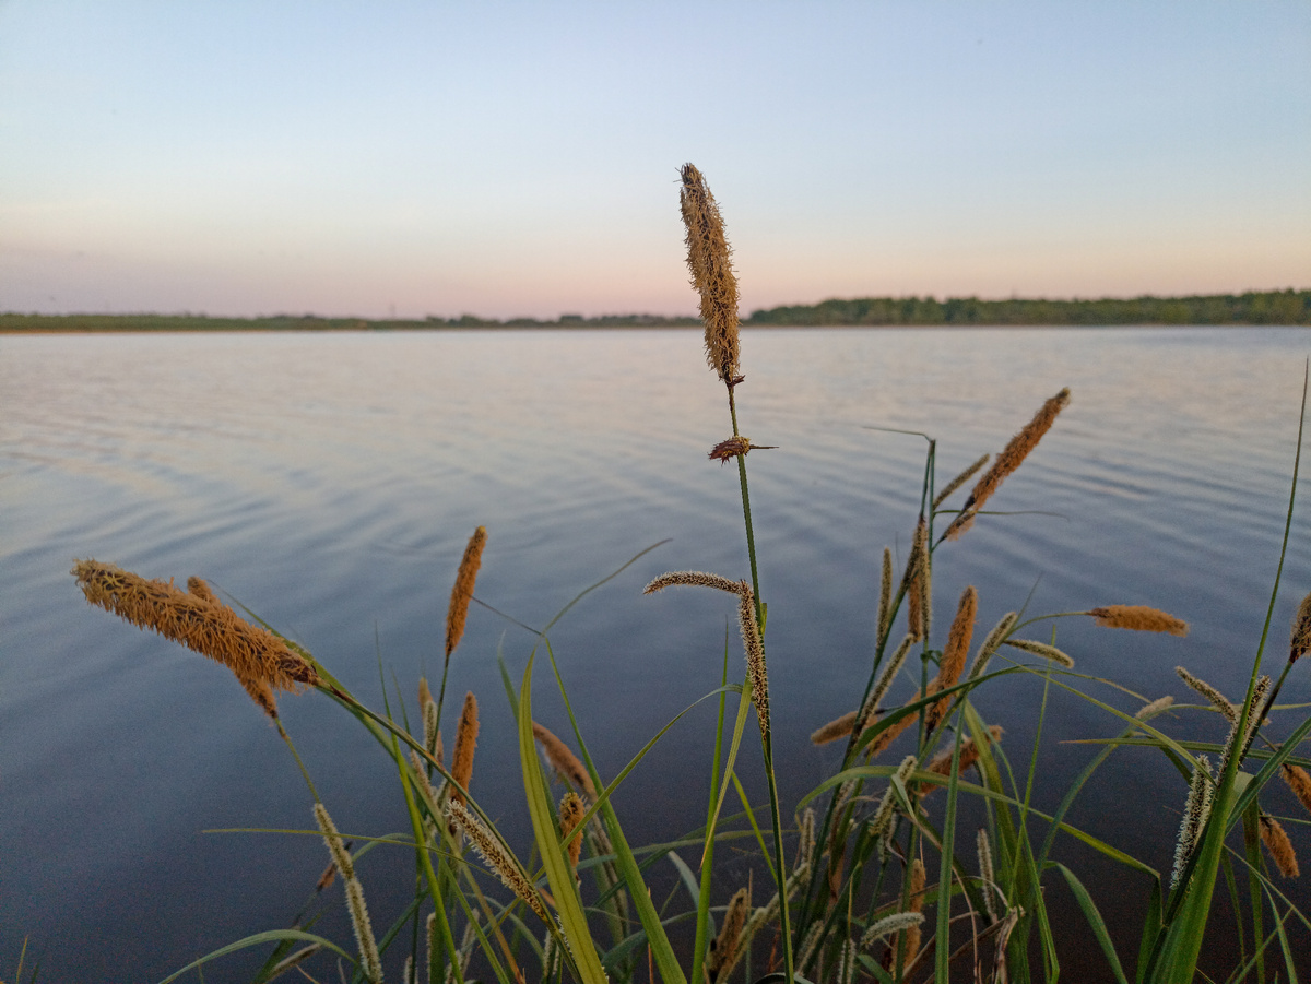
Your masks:
<svg viewBox="0 0 1311 984"><path fill-rule="evenodd" d="M210 317L180 314L22 314L0 312L0 334L102 331L431 331L488 329L700 328L699 317L661 314L561 314L539 318L359 318L317 314ZM1096 300L978 297L832 297L819 304L759 309L747 328L1092 328L1141 325L1311 325L1311 290L1248 291L1181 297Z"/></svg>

